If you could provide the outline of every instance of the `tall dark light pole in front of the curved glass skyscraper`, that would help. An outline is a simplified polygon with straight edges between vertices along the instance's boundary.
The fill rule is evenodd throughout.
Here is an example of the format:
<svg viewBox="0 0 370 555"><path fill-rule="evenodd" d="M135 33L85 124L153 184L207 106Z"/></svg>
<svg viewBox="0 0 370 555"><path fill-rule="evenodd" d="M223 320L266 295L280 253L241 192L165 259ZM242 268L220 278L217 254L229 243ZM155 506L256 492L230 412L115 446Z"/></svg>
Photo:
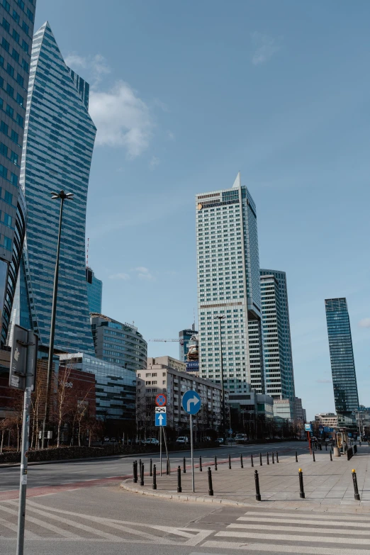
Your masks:
<svg viewBox="0 0 370 555"><path fill-rule="evenodd" d="M73 193L65 193L65 191L60 191L59 193L52 193L52 198L60 198L60 215L59 215L59 230L58 230L58 242L57 242L57 260L55 262L55 274L54 274L54 288L52 291L52 317L50 323L50 342L49 342L49 358L47 359L47 379L46 379L46 397L45 397L45 415L43 420L43 432L41 436L41 448L45 449L45 430L46 424L49 420L49 410L50 410L50 386L51 386L51 375L52 375L52 357L54 354L54 336L55 336L55 316L57 313L57 293L58 293L58 277L59 277L59 258L60 258L60 235L62 233L62 217L63 217L63 204L65 200L72 199Z"/></svg>

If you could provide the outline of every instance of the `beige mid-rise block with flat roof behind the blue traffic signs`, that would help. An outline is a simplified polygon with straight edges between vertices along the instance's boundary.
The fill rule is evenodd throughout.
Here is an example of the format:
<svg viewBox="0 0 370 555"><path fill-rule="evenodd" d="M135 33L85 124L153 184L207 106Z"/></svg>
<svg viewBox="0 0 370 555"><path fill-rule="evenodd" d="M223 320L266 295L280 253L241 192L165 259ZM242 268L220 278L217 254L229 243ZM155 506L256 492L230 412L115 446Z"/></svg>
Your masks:
<svg viewBox="0 0 370 555"><path fill-rule="evenodd" d="M147 359L145 369L138 371L136 383L136 410L139 427L154 429L155 396L167 395L167 426L189 430L189 415L181 407L181 398L193 389L201 396L202 408L194 416L197 431L218 430L221 419L221 385L186 374L186 364L172 357ZM225 393L225 403L228 393Z"/></svg>

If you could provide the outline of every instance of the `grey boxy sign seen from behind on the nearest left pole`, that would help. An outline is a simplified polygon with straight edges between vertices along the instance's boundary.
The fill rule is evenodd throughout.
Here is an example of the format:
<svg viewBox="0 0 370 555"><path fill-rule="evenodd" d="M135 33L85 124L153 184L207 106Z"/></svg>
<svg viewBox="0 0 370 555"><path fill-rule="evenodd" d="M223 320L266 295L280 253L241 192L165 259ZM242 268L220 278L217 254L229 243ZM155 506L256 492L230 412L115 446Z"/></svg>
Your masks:
<svg viewBox="0 0 370 555"><path fill-rule="evenodd" d="M11 364L9 369L9 387L25 391L30 387L35 388L36 362L38 354L38 336L30 332L32 340L30 343L35 347L32 351L32 360L29 361L28 374L26 376L28 330L20 325L13 329L13 344L11 347Z"/></svg>

